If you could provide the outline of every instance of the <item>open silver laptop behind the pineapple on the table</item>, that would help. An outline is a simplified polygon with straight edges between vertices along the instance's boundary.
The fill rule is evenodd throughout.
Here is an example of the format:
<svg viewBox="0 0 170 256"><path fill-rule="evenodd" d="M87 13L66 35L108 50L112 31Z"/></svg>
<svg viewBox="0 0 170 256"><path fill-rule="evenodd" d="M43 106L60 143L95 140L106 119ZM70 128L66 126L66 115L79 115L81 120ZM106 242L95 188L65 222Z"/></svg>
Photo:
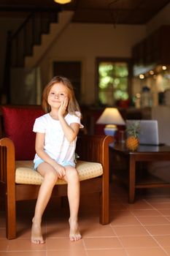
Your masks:
<svg viewBox="0 0 170 256"><path fill-rule="evenodd" d="M160 146L158 136L158 121L157 120L126 120L126 127L131 125L134 121L140 122L139 144Z"/></svg>

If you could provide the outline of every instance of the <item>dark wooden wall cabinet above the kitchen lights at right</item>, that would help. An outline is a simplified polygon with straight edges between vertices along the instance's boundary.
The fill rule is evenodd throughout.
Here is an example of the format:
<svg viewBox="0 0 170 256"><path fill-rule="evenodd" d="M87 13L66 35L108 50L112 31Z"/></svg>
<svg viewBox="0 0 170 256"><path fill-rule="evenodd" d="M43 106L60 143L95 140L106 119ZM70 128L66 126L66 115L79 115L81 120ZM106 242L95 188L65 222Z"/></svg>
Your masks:
<svg viewBox="0 0 170 256"><path fill-rule="evenodd" d="M132 59L141 65L170 64L170 26L161 26L134 45Z"/></svg>

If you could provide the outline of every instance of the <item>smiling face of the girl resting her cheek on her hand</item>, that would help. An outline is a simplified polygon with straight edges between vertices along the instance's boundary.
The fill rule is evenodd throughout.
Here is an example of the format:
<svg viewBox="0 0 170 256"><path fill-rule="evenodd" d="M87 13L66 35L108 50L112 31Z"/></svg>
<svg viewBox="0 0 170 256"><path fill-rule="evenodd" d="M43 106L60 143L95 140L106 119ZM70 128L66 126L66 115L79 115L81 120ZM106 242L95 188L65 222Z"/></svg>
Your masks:
<svg viewBox="0 0 170 256"><path fill-rule="evenodd" d="M48 94L47 102L53 108L59 108L61 102L68 97L68 89L63 83L55 83Z"/></svg>

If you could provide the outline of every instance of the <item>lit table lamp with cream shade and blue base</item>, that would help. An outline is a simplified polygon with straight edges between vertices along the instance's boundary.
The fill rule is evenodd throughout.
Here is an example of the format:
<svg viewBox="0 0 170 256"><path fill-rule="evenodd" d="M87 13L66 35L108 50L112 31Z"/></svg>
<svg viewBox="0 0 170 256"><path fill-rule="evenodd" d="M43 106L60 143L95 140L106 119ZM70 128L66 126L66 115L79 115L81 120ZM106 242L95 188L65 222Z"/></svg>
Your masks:
<svg viewBox="0 0 170 256"><path fill-rule="evenodd" d="M96 124L106 124L104 134L114 136L117 132L117 125L125 125L125 121L117 108L105 108Z"/></svg>

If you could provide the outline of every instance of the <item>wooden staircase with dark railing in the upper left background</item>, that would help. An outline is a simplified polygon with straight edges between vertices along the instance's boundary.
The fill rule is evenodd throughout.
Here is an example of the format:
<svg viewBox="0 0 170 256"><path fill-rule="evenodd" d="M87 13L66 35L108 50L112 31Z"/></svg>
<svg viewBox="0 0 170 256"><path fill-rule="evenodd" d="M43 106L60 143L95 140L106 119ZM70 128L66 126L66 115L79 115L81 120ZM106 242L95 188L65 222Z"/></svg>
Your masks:
<svg viewBox="0 0 170 256"><path fill-rule="evenodd" d="M72 15L73 12L69 11L36 10L28 15L15 34L9 34L3 88L7 104L39 103L37 97L40 97L41 86L36 87L41 83L41 75L38 70L37 81L36 69L47 50L66 29ZM34 81L30 83L30 80ZM30 99L29 94L32 94Z"/></svg>

